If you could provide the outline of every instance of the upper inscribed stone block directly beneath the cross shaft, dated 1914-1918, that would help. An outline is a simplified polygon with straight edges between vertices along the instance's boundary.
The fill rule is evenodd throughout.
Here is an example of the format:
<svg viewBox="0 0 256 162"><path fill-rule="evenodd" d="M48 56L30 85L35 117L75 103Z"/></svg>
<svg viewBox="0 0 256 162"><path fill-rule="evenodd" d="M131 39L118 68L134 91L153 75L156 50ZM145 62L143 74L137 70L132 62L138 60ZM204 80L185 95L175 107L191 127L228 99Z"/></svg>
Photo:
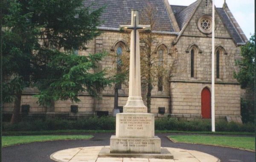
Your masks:
<svg viewBox="0 0 256 162"><path fill-rule="evenodd" d="M116 137L154 138L154 114L116 114Z"/></svg>

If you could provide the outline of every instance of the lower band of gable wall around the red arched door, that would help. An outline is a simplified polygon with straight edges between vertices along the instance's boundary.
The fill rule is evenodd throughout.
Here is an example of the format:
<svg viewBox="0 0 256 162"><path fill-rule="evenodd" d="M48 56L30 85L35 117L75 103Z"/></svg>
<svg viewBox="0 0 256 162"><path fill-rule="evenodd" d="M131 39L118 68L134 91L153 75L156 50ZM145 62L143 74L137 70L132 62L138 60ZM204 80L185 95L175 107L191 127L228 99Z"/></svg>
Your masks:
<svg viewBox="0 0 256 162"><path fill-rule="evenodd" d="M201 92L211 83L171 82L172 117L198 120L201 115ZM238 84L215 84L215 118L240 116L241 89Z"/></svg>

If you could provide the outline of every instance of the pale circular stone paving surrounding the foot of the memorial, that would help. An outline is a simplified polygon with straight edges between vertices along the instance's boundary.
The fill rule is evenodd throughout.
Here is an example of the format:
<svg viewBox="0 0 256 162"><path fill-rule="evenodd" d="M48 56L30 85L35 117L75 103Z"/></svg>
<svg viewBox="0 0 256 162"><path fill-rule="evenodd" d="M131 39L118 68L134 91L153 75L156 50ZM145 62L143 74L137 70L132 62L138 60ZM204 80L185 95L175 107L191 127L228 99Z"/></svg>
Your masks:
<svg viewBox="0 0 256 162"><path fill-rule="evenodd" d="M99 157L99 151L103 147L93 146L70 148L53 153L50 158L56 162L221 162L218 158L193 150L184 150L180 148L166 148L173 154L174 159L148 159L148 158L113 158Z"/></svg>

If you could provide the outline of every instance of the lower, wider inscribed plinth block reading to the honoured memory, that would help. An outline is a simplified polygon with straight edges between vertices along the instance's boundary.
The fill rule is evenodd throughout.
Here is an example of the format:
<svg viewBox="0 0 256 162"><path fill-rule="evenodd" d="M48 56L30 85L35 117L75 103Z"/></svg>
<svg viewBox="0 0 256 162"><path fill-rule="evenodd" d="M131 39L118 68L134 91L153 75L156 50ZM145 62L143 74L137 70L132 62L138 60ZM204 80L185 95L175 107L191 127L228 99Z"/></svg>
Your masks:
<svg viewBox="0 0 256 162"><path fill-rule="evenodd" d="M154 138L118 138L111 136L110 153L160 154L161 140Z"/></svg>

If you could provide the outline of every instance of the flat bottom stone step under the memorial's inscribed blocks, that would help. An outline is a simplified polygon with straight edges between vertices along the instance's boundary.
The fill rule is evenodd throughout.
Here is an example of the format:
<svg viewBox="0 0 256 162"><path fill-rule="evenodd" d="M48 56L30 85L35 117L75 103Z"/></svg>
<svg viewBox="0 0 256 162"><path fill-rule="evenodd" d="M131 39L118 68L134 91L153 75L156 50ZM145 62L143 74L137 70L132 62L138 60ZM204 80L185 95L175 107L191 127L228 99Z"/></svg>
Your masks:
<svg viewBox="0 0 256 162"><path fill-rule="evenodd" d="M102 148L98 157L128 157L128 158L150 158L150 159L173 159L173 155L166 149L161 148L160 154L136 154L136 153L110 153L110 148Z"/></svg>

